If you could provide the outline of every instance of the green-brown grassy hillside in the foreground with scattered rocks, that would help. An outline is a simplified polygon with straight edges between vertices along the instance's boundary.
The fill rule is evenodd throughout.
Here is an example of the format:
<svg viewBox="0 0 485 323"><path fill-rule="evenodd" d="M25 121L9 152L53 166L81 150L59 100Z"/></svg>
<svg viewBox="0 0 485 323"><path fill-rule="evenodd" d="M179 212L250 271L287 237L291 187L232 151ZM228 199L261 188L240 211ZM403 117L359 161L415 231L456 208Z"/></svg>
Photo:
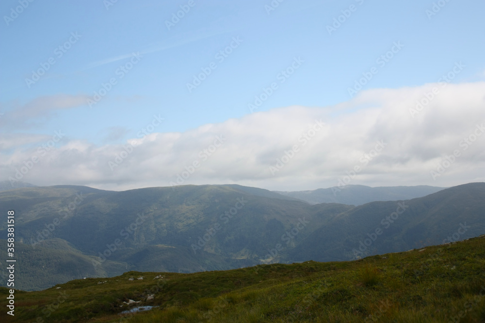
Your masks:
<svg viewBox="0 0 485 323"><path fill-rule="evenodd" d="M358 261L128 272L16 291L15 304L1 322L485 322L485 236ZM157 308L118 314L134 306Z"/></svg>

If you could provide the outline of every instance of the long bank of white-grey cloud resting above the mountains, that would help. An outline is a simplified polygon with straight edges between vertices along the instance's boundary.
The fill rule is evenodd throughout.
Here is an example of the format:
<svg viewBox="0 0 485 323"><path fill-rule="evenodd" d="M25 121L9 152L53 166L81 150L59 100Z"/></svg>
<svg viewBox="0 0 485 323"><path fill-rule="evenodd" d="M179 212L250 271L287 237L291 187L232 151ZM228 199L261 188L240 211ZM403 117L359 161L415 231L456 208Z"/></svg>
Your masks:
<svg viewBox="0 0 485 323"><path fill-rule="evenodd" d="M417 101L426 103L425 93L433 87L439 92L413 118L410 109L416 108ZM154 133L129 140L137 143L135 148L113 171L109 162L123 151L121 145L96 147L70 141L39 158L22 180L36 185L89 185L115 190L168 186L185 166L190 169L198 161L200 167L183 184L315 189L337 185L346 172L352 174L360 166L362 170L350 184L459 185L483 180L485 135L470 141L466 149L462 140L475 131L478 134L477 124L485 123L484 98L485 82L448 84L444 88L426 84L361 92L336 107L278 108L184 133ZM303 145L301 136L315 120L322 120L325 126ZM210 149L221 135L225 142L204 160L203 150ZM382 140L385 148L364 165L361 157L373 154L372 149ZM298 145L299 151L273 175L270 166L275 166L276 158L293 145ZM438 163L455 150L460 156L433 180L430 171L436 171ZM34 154L34 149L0 153L0 180L14 176Z"/></svg>

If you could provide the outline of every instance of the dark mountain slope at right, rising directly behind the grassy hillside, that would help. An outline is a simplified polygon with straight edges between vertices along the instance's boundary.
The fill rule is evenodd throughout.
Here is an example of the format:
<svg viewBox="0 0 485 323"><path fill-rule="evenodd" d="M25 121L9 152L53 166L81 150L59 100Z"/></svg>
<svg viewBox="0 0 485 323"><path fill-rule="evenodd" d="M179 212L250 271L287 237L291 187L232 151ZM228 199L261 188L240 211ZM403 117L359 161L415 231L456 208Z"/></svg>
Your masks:
<svg viewBox="0 0 485 323"><path fill-rule="evenodd" d="M372 202L337 216L291 249L288 259L348 260L441 244L449 237L455 241L485 233L485 183L459 185L407 200L399 209L398 203L403 204ZM397 210L403 213L395 213ZM376 232L379 229L381 234ZM361 245L366 243L365 239L369 246ZM355 250L362 252L356 254Z"/></svg>

